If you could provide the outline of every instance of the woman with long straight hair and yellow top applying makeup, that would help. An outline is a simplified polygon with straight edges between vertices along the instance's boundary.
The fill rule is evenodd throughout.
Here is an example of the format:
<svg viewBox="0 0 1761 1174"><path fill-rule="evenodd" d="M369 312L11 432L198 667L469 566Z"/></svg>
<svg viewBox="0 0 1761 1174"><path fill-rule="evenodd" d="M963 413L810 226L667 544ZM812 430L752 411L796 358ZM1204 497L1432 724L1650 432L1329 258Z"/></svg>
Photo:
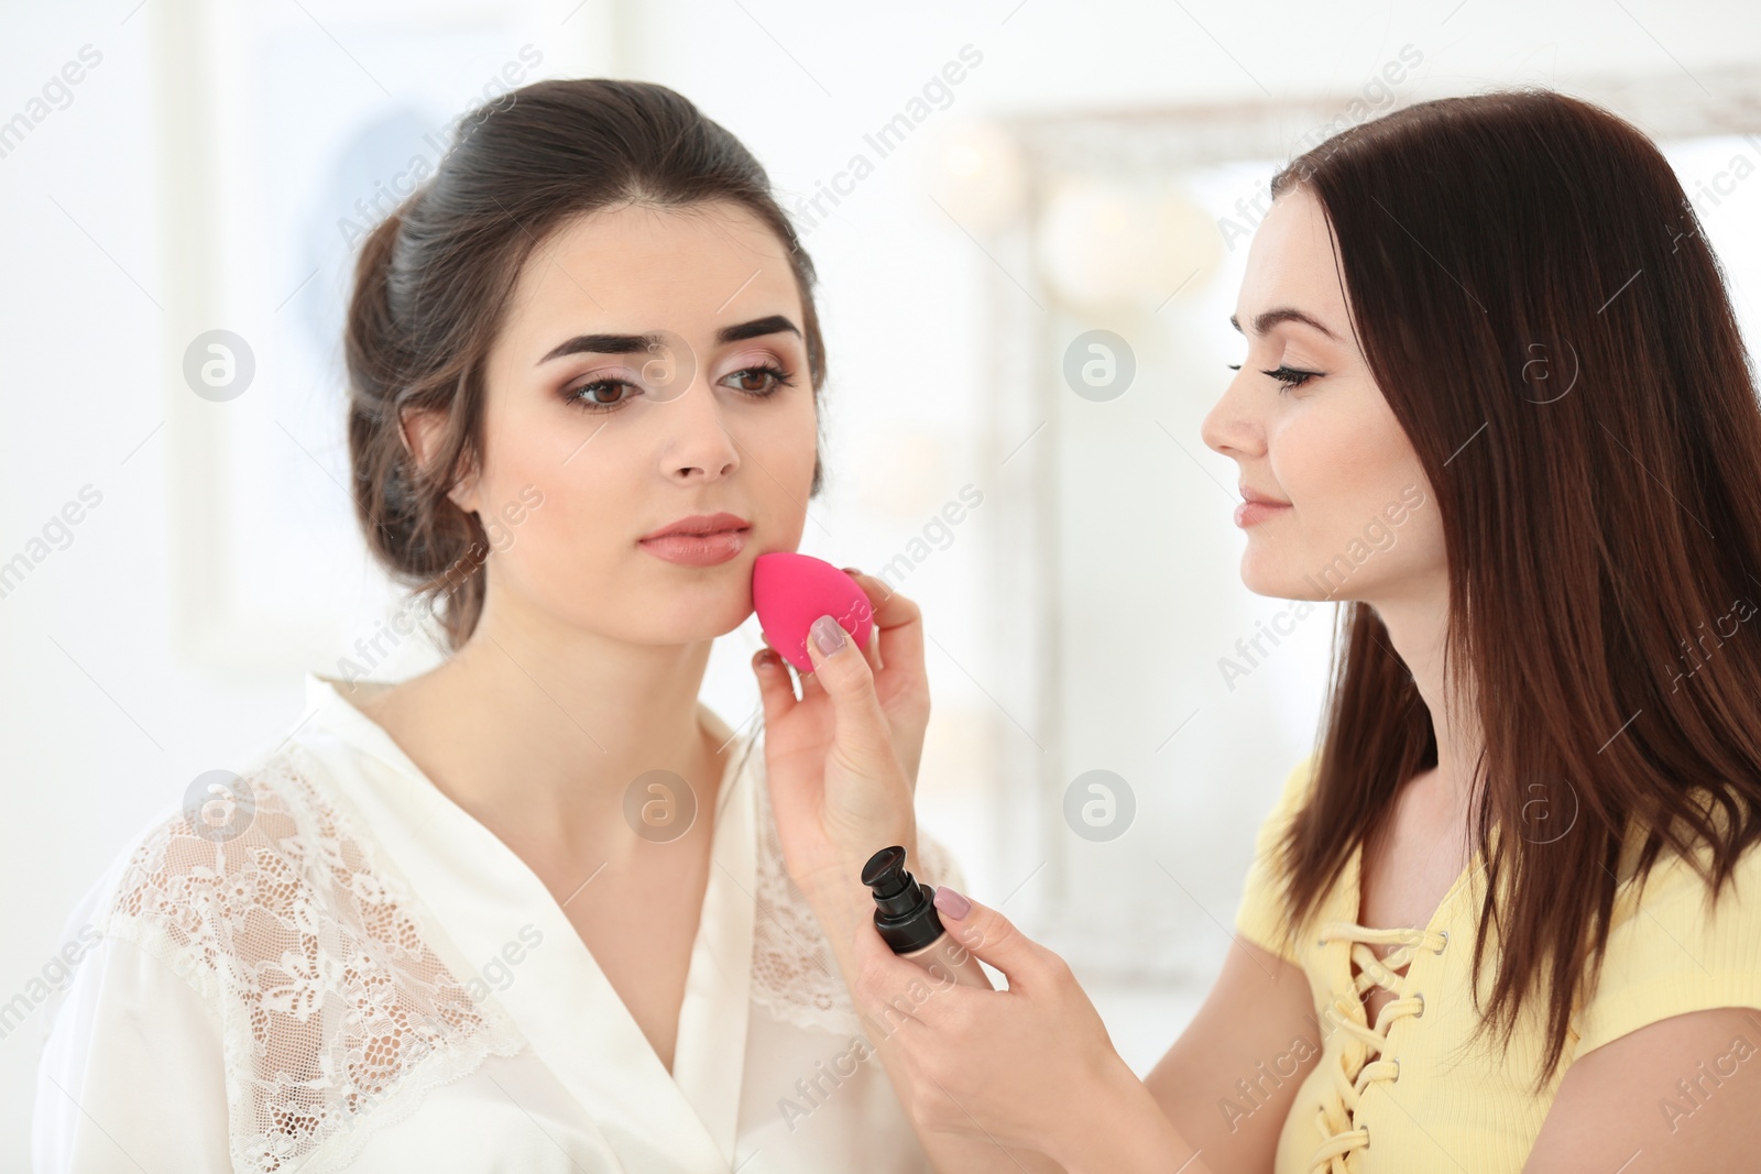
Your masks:
<svg viewBox="0 0 1761 1174"><path fill-rule="evenodd" d="M1682 185L1516 92L1271 192L1203 435L1249 590L1344 604L1315 750L1143 1081L995 910L937 894L1009 989L916 1005L859 926L912 1112L1104 1174L1756 1170L1761 410Z"/></svg>

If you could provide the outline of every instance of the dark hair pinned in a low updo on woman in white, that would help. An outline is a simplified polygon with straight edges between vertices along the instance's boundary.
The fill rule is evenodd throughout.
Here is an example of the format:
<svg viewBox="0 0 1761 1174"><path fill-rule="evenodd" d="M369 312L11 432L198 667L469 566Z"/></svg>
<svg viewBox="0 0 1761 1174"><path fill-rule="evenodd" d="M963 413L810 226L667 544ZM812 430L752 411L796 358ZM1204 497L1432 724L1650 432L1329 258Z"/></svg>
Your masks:
<svg viewBox="0 0 1761 1174"><path fill-rule="evenodd" d="M356 517L380 565L435 611L449 648L483 613L490 540L447 491L483 454L483 363L521 266L572 216L706 201L747 209L787 250L817 398L826 347L814 262L757 158L666 86L539 81L486 102L460 120L435 174L363 243L343 338ZM400 424L424 408L447 422L417 468ZM822 481L815 459L810 495Z"/></svg>

